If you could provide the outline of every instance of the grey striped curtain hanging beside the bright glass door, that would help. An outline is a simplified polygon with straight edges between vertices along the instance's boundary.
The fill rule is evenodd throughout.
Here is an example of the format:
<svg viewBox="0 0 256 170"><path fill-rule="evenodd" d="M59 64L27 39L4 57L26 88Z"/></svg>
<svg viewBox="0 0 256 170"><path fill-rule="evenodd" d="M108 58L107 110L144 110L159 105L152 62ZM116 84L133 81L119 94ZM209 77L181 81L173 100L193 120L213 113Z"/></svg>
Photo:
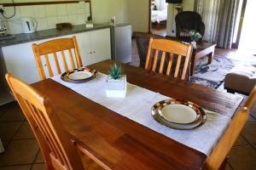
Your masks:
<svg viewBox="0 0 256 170"><path fill-rule="evenodd" d="M231 48L240 0L197 0L196 11L206 25L204 40Z"/></svg>

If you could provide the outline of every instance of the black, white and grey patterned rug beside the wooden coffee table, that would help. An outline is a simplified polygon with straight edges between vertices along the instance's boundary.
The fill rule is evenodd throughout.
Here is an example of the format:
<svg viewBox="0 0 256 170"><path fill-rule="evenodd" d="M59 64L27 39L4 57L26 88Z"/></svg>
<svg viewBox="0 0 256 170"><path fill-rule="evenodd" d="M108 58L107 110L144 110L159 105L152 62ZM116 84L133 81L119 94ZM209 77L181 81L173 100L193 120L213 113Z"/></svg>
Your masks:
<svg viewBox="0 0 256 170"><path fill-rule="evenodd" d="M218 88L223 82L227 73L238 63L236 60L215 56L212 64L207 65L207 57L198 59L195 66L195 74L190 77L190 82Z"/></svg>

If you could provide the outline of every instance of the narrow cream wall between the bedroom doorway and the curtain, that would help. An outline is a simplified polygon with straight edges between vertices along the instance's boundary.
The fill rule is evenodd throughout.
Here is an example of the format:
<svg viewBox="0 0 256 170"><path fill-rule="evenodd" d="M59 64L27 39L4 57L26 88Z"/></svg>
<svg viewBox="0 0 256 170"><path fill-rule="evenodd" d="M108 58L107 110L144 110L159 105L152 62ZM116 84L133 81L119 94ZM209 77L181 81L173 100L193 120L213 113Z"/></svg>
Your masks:
<svg viewBox="0 0 256 170"><path fill-rule="evenodd" d="M194 10L195 0L183 0L183 11L193 11ZM167 16L167 36L176 36L176 27L175 27L175 16L177 10L174 8L174 5L170 3L168 5L168 16Z"/></svg>

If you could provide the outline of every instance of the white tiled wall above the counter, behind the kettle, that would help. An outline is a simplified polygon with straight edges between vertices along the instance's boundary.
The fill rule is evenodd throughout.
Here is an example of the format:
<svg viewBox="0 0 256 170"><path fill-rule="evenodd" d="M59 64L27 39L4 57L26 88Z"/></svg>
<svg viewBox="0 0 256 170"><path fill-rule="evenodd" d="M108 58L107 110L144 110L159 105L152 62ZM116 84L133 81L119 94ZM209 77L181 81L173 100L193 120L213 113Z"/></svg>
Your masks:
<svg viewBox="0 0 256 170"><path fill-rule="evenodd" d="M22 3L28 0L20 0ZM16 0L15 2L20 2ZM40 2L48 0L40 0ZM30 1L31 2L31 1ZM33 1L35 2L35 1ZM1 0L2 3L2 0ZM14 14L13 7L4 7L5 15ZM31 5L16 7L14 18L6 20L9 33L17 34L22 32L20 18L31 17L38 23L37 31L55 28L56 23L70 22L73 25L84 24L90 15L89 3L66 3L49 5Z"/></svg>

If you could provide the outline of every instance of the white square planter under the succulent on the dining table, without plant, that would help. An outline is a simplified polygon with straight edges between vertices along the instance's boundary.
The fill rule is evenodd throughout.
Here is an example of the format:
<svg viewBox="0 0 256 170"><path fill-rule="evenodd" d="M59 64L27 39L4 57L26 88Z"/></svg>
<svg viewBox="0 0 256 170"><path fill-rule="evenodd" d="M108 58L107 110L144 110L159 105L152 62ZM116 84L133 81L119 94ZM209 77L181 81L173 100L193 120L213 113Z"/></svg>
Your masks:
<svg viewBox="0 0 256 170"><path fill-rule="evenodd" d="M117 80L108 76L106 82L106 95L108 98L125 98L126 89L125 75L122 75Z"/></svg>

